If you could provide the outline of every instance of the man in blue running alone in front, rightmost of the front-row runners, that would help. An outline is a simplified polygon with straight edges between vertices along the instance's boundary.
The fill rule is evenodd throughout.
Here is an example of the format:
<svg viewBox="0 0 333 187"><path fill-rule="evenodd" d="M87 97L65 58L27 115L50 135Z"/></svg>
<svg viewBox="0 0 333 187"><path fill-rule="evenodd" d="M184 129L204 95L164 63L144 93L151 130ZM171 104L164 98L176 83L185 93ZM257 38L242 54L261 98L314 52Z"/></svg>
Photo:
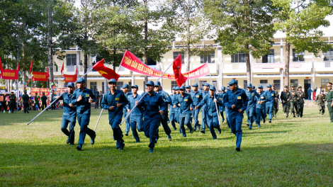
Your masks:
<svg viewBox="0 0 333 187"><path fill-rule="evenodd" d="M236 135L236 150L240 151L242 143L242 120L244 111L247 109L247 94L243 89L239 89L237 81L232 79L229 83L230 90L225 93L223 103L228 108L228 121L230 123L231 132Z"/></svg>

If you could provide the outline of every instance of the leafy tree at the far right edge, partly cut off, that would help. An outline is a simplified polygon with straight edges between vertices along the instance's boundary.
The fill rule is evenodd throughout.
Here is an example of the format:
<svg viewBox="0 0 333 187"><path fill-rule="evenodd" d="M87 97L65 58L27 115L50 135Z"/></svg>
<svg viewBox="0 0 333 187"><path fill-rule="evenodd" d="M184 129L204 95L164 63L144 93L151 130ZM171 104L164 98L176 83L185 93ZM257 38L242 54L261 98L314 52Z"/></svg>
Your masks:
<svg viewBox="0 0 333 187"><path fill-rule="evenodd" d="M321 40L323 35L320 26L329 26L324 18L332 14L330 1L292 1L272 0L273 5L282 9L276 13L275 28L286 33L286 64L285 85L289 86L290 45L295 46L295 52L313 52L318 56L320 51L326 52L332 47L327 40Z"/></svg>

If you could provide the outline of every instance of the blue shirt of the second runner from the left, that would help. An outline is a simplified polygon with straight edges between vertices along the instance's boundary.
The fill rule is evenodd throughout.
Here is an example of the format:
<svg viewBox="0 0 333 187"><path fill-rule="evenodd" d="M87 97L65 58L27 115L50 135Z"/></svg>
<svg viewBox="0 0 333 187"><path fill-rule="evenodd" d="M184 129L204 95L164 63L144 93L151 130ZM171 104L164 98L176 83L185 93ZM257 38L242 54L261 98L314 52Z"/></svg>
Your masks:
<svg viewBox="0 0 333 187"><path fill-rule="evenodd" d="M77 101L77 98L82 96L81 101ZM90 89L76 89L72 94L72 105L77 105L77 113L79 114L90 114L91 104L89 103L89 98L92 98L93 101L96 101L96 96Z"/></svg>

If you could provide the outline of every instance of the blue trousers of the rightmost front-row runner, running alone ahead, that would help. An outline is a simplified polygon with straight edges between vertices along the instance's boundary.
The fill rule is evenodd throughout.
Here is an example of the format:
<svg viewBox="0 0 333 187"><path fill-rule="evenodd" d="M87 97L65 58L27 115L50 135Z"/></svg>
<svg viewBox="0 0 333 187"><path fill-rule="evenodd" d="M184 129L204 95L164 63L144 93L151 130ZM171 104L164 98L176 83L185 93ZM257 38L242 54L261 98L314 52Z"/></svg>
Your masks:
<svg viewBox="0 0 333 187"><path fill-rule="evenodd" d="M230 123L231 132L236 135L236 147L240 148L242 143L242 120L244 118L243 113L239 111L229 111L228 120Z"/></svg>

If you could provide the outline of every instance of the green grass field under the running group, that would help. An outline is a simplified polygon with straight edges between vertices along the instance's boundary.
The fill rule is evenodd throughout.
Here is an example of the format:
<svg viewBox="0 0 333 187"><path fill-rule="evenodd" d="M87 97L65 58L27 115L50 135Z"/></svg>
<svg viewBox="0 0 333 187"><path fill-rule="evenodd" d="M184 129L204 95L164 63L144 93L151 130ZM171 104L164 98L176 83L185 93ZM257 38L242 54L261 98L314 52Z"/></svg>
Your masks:
<svg viewBox="0 0 333 187"><path fill-rule="evenodd" d="M184 138L176 130L169 142L160 128L153 154L143 132L142 143L130 132L124 151L115 149L107 112L95 145L87 137L82 152L66 144L62 110L45 111L30 125L37 111L0 113L0 186L333 186L333 123L327 113L312 106L303 118L286 118L279 108L278 118L261 128L249 130L244 118L241 152L222 123L218 140L209 131ZM99 113L92 109L90 128ZM77 144L78 124L75 130Z"/></svg>

